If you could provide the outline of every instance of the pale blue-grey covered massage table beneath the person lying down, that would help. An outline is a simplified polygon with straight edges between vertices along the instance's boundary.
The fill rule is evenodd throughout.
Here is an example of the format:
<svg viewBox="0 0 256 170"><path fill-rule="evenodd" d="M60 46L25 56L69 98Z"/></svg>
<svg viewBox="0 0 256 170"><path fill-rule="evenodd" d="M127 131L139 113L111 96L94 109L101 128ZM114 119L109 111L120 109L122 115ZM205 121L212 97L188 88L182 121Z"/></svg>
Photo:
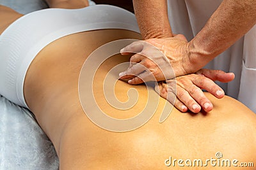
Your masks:
<svg viewBox="0 0 256 170"><path fill-rule="evenodd" d="M90 5L95 4L89 2ZM48 8L42 0L0 0L0 4L22 14ZM59 160L54 146L33 113L0 95L1 169L53 170L59 169Z"/></svg>

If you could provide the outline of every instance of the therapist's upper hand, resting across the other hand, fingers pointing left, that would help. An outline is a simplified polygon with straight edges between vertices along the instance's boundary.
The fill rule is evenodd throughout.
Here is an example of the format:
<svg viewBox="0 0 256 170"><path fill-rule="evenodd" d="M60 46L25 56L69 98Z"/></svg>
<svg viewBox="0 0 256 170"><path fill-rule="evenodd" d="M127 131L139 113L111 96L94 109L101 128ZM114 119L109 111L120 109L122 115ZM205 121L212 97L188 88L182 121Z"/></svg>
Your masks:
<svg viewBox="0 0 256 170"><path fill-rule="evenodd" d="M150 73L157 81L169 80L175 76L195 73L205 64L202 60L197 64L196 60L189 56L189 43L182 34L171 38L136 41L125 46L120 52L122 55L136 53L130 59L129 68L119 75L122 79L130 79L128 83L132 85L154 81L149 78Z"/></svg>

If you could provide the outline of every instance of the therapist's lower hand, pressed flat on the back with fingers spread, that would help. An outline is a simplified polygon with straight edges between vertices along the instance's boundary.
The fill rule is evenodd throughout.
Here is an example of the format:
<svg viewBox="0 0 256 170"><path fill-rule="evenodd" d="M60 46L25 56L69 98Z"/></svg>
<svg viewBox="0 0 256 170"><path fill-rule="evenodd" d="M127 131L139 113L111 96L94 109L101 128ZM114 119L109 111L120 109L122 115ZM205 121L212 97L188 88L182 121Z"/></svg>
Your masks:
<svg viewBox="0 0 256 170"><path fill-rule="evenodd" d="M233 79L234 73L200 69L195 74L179 76L176 80L167 80L166 83L159 82L159 89L156 86L155 90L178 110L182 112L191 110L193 113L198 113L201 109L211 111L213 108L211 101L205 97L201 89L207 90L220 99L224 97L224 91L214 81L228 82ZM177 98L175 99L175 97Z"/></svg>

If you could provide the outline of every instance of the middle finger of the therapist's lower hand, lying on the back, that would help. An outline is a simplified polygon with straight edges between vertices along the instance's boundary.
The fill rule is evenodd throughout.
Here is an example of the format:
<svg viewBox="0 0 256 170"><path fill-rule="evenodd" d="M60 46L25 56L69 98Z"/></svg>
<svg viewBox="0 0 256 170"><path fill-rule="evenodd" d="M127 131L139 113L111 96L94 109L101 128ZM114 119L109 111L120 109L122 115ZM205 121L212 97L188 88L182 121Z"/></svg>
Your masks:
<svg viewBox="0 0 256 170"><path fill-rule="evenodd" d="M191 85L188 90L189 94L195 101L202 106L204 111L209 112L212 110L213 106L211 101L204 95L204 92L196 85Z"/></svg>

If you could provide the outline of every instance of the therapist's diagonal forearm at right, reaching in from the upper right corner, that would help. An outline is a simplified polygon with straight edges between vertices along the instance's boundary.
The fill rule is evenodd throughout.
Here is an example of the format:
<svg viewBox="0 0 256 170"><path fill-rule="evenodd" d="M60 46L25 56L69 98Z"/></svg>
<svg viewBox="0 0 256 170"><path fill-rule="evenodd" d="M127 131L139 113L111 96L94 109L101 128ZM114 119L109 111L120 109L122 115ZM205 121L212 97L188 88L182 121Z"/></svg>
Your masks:
<svg viewBox="0 0 256 170"><path fill-rule="evenodd" d="M233 45L256 22L256 1L224 0L205 27L191 40L191 53L209 62Z"/></svg>

